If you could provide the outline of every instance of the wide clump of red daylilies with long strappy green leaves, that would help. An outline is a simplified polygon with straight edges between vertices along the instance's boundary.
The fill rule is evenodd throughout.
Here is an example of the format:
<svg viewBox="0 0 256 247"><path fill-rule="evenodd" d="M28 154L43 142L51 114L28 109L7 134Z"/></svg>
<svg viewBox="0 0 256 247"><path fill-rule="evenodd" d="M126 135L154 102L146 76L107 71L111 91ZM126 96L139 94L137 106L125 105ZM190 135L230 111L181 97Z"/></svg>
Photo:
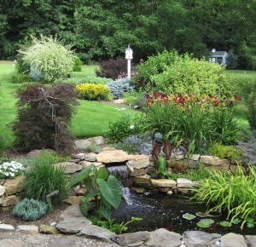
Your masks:
<svg viewBox="0 0 256 247"><path fill-rule="evenodd" d="M143 128L159 131L176 148L184 146L189 153L207 152L210 141L232 145L238 132L235 101L241 97L221 100L216 96L154 93L148 95Z"/></svg>

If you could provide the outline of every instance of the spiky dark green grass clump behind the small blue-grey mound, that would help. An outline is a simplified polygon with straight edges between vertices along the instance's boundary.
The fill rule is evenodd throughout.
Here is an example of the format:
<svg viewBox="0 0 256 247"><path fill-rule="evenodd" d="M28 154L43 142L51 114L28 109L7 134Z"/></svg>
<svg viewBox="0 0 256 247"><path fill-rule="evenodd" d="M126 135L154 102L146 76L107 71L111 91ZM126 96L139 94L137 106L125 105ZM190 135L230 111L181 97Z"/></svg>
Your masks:
<svg viewBox="0 0 256 247"><path fill-rule="evenodd" d="M46 152L40 152L26 168L26 198L33 198L46 202L46 196L54 191L59 191L51 198L51 204L60 204L67 198L67 176L65 167L55 166L55 157Z"/></svg>

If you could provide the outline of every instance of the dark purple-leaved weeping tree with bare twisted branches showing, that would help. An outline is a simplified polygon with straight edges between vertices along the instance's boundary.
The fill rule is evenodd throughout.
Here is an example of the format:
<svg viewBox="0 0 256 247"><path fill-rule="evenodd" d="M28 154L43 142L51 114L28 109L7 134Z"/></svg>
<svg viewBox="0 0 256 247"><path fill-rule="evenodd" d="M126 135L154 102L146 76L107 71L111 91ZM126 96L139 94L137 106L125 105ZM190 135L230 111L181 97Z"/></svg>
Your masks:
<svg viewBox="0 0 256 247"><path fill-rule="evenodd" d="M79 105L73 85L58 83L46 87L41 83L23 84L17 89L17 118L13 124L15 145L26 151L58 149L72 140L68 129L75 106Z"/></svg>

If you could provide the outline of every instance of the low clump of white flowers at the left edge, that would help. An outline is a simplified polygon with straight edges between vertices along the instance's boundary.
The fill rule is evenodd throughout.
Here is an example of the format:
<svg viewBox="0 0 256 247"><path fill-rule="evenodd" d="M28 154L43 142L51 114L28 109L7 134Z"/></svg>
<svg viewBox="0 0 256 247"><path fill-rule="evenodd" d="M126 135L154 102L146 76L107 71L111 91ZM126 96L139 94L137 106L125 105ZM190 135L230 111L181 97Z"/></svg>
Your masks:
<svg viewBox="0 0 256 247"><path fill-rule="evenodd" d="M16 161L0 164L0 178L14 178L16 175L22 174L23 171L23 165Z"/></svg>

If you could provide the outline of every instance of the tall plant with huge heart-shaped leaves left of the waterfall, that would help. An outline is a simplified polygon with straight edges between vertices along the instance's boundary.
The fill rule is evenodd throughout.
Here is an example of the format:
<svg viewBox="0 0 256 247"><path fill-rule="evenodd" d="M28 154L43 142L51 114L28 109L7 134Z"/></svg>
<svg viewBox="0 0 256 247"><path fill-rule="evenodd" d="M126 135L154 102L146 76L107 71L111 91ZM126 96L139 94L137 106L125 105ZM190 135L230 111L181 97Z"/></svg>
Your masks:
<svg viewBox="0 0 256 247"><path fill-rule="evenodd" d="M104 216L109 220L111 208L117 209L121 203L122 188L117 178L113 175L108 175L108 169L105 167L96 169L94 164L90 164L90 166L79 172L78 175L74 176L67 187L72 187L80 181L83 181L89 190L84 203L90 204L90 198L94 197L96 201L96 215L99 219Z"/></svg>

